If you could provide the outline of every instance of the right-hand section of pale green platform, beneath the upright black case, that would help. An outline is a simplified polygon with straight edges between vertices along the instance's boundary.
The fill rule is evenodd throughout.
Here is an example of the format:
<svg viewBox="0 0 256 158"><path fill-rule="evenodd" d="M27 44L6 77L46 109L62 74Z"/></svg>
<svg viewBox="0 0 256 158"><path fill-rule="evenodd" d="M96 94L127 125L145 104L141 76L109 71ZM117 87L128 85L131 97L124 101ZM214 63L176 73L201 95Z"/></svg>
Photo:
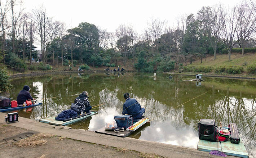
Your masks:
<svg viewBox="0 0 256 158"><path fill-rule="evenodd" d="M239 144L231 143L231 141L221 142L222 152L226 155L248 158L249 155L244 147L243 143L240 141Z"/></svg>

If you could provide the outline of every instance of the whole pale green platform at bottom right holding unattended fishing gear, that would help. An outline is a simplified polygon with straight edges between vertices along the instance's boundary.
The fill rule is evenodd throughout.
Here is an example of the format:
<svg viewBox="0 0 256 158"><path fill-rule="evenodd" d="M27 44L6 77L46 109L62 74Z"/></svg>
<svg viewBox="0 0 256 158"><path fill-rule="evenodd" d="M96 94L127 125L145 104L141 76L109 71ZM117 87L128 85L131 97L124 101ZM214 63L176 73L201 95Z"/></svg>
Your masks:
<svg viewBox="0 0 256 158"><path fill-rule="evenodd" d="M197 150L204 152L211 152L211 150L217 150L217 142L201 140L199 139ZM249 155L240 141L239 144L233 144L230 140L225 142L219 142L219 151L222 151L226 155L248 158Z"/></svg>

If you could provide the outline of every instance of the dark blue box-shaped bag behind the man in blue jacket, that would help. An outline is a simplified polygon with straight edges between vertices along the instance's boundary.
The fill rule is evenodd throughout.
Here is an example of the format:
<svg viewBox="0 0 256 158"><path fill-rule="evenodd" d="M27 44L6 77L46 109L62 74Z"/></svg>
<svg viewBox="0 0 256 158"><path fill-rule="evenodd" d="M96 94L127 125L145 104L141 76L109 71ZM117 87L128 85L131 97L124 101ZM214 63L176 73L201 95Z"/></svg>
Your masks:
<svg viewBox="0 0 256 158"><path fill-rule="evenodd" d="M116 115L114 116L114 120L118 127L124 127L124 129L132 126L133 124L132 115Z"/></svg>

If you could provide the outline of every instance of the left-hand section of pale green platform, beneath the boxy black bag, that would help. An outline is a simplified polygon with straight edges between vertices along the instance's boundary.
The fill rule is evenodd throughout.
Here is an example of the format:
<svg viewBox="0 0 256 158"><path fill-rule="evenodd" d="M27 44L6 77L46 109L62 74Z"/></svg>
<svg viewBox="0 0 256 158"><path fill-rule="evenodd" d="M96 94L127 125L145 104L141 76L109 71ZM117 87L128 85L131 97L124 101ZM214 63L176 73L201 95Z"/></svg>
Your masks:
<svg viewBox="0 0 256 158"><path fill-rule="evenodd" d="M217 142L199 139L198 144L197 144L197 150L200 150L203 152L211 152L211 150L218 150ZM221 143L220 142L219 142L219 151L221 151Z"/></svg>

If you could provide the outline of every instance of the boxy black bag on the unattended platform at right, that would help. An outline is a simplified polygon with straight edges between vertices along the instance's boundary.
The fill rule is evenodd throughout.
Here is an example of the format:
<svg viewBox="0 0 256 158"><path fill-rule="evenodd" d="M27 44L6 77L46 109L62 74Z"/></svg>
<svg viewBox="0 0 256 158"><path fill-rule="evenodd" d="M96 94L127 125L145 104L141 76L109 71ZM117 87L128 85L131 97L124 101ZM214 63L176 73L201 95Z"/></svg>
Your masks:
<svg viewBox="0 0 256 158"><path fill-rule="evenodd" d="M199 139L216 141L217 127L214 119L200 119L198 123Z"/></svg>

